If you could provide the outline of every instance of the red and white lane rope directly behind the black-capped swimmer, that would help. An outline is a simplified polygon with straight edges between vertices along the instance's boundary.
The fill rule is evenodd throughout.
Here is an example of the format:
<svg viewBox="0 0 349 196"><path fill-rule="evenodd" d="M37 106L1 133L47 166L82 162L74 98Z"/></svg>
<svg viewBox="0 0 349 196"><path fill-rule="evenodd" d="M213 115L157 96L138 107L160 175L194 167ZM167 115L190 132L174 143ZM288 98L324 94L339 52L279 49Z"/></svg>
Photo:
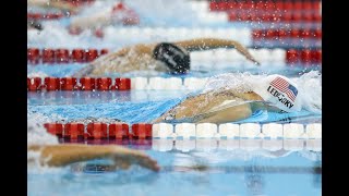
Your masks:
<svg viewBox="0 0 349 196"><path fill-rule="evenodd" d="M62 63L86 63L92 62L99 56L108 53L108 49L27 49L28 64L62 64ZM249 49L256 60L261 61L263 65L269 64L321 64L322 49ZM205 51L194 51L190 53L192 64L201 64L201 62L231 62L234 64L249 64L248 61L236 49L215 49ZM156 81L156 78L154 78ZM160 78L159 78L160 79ZM154 82L155 82L154 81ZM143 82L142 82L143 83ZM153 83L153 82L152 82ZM173 81L176 82L176 79ZM154 83L154 85L160 85ZM154 86L153 85L153 86ZM156 88L156 87L155 87Z"/></svg>

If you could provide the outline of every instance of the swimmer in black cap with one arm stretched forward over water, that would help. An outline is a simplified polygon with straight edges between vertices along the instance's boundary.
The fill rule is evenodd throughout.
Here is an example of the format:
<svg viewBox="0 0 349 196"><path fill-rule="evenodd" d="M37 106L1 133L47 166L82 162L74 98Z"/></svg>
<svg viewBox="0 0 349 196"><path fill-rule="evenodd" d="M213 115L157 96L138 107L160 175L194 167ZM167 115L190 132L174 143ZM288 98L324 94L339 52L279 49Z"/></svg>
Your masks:
<svg viewBox="0 0 349 196"><path fill-rule="evenodd" d="M260 65L249 50L230 39L196 38L176 42L139 44L103 56L73 74L74 77L103 76L107 73L155 70L184 74L190 70L191 51L236 48L246 59ZM214 58L214 57L213 57Z"/></svg>

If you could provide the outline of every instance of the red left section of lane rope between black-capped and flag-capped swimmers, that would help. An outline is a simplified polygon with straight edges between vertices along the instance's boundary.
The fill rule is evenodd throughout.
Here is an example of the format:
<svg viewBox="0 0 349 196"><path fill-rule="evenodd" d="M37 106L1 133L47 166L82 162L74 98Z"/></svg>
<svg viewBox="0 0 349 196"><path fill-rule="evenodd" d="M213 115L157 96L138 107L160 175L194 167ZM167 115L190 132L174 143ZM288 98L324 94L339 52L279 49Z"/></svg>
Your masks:
<svg viewBox="0 0 349 196"><path fill-rule="evenodd" d="M115 84L112 84L115 81ZM117 77L27 77L27 90L130 90L131 78Z"/></svg>

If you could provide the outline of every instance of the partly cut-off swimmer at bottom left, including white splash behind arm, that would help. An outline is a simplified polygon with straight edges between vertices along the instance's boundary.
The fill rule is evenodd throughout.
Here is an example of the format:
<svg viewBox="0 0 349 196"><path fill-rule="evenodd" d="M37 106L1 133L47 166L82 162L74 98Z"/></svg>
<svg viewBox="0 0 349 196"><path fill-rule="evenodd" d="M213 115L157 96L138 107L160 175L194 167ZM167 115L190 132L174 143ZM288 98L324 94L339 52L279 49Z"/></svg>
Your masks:
<svg viewBox="0 0 349 196"><path fill-rule="evenodd" d="M58 138L48 134L40 125L28 124L27 133L28 166L36 160L40 166L65 167L82 161L109 159L113 161L110 167L115 170L125 170L131 164L139 164L153 171L159 171L157 162L139 150L116 145L59 144ZM35 157L33 154L39 156Z"/></svg>

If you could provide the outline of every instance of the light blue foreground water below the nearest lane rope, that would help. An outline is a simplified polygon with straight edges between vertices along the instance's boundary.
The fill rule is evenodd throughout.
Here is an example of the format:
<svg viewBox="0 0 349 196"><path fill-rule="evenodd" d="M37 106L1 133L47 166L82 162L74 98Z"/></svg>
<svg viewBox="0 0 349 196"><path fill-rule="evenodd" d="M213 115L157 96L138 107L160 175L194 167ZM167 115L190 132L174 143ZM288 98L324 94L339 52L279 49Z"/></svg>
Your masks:
<svg viewBox="0 0 349 196"><path fill-rule="evenodd" d="M31 172L28 195L321 195L321 151L146 150L163 168ZM250 154L250 155L249 155ZM274 152L275 155L278 151ZM103 161L91 161L91 166ZM86 163L87 164L87 163ZM190 169L205 166L204 170ZM185 168L186 167L186 168Z"/></svg>

